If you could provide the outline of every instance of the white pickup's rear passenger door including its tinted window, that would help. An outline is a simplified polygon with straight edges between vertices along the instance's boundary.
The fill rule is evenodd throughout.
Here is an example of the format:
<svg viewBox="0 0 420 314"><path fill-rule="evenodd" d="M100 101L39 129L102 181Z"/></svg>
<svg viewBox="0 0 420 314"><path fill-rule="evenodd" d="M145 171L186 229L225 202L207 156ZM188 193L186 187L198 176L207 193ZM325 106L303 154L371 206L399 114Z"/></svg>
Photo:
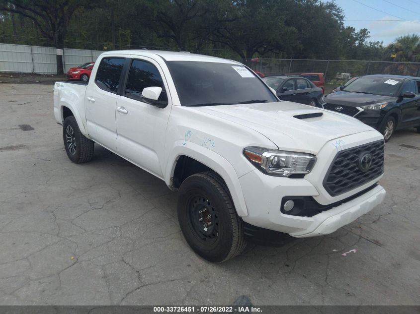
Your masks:
<svg viewBox="0 0 420 314"><path fill-rule="evenodd" d="M103 58L84 95L87 133L114 151L117 139L115 107L125 61L125 58Z"/></svg>

